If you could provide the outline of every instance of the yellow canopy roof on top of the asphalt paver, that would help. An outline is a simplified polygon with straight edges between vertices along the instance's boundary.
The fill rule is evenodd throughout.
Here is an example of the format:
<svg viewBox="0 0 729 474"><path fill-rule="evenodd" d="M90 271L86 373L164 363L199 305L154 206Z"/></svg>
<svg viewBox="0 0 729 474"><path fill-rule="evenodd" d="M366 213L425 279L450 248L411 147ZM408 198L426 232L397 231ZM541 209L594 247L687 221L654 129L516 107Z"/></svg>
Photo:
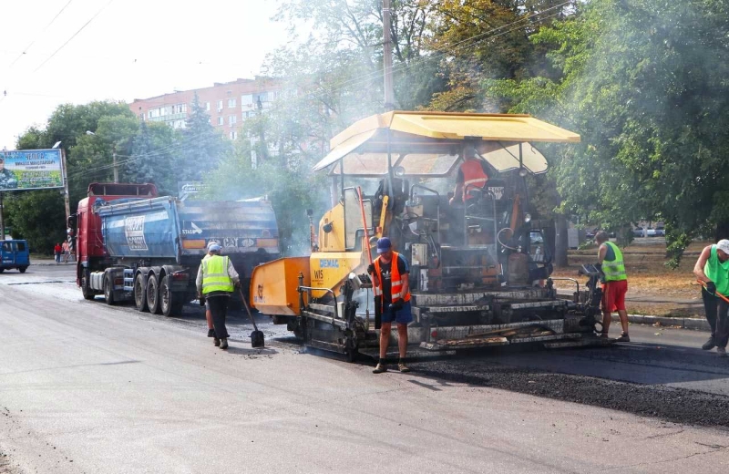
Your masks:
<svg viewBox="0 0 729 474"><path fill-rule="evenodd" d="M579 141L580 135L529 115L394 111L363 118L331 139L331 151L313 170L342 160L346 174L378 176L387 172L389 152L408 175L442 176L468 142L498 171L523 166L537 174L548 164L533 142Z"/></svg>

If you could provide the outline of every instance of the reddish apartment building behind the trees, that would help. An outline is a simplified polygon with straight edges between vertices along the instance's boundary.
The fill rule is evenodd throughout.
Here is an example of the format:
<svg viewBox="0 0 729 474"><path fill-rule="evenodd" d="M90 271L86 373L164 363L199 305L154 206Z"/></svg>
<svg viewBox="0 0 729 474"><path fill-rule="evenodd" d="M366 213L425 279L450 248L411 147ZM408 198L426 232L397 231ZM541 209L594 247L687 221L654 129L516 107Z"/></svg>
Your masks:
<svg viewBox="0 0 729 474"><path fill-rule="evenodd" d="M135 98L129 108L139 118L164 122L174 129L184 129L190 117L192 99L198 94L200 105L210 114L210 123L236 139L246 118L270 108L282 94L282 84L268 77L216 82L210 88L175 91L154 98Z"/></svg>

